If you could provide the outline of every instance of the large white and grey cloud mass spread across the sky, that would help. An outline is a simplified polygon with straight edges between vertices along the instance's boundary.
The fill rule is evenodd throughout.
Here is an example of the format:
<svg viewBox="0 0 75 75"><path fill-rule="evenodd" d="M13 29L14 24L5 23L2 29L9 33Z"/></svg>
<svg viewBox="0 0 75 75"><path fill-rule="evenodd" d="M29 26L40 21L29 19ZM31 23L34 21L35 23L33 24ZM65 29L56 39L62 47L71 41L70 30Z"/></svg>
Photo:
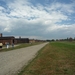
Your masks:
<svg viewBox="0 0 75 75"><path fill-rule="evenodd" d="M4 30L1 30L2 32L40 37L46 33L49 35L51 32L58 32L60 35L61 32L74 31L74 24L61 23L71 19L69 14L74 13L73 3L61 4L57 2L47 6L34 7L27 0L13 0L8 2L7 7L8 9L5 9L0 6L0 26Z"/></svg>

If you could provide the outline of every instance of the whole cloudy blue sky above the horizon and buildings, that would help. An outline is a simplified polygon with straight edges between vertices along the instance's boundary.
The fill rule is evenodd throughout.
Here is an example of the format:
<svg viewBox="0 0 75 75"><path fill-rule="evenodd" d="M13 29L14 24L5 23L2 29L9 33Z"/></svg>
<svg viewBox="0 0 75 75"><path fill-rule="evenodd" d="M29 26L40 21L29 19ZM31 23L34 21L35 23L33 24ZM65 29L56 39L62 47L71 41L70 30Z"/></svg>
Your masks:
<svg viewBox="0 0 75 75"><path fill-rule="evenodd" d="M75 0L0 0L0 33L30 39L75 37Z"/></svg>

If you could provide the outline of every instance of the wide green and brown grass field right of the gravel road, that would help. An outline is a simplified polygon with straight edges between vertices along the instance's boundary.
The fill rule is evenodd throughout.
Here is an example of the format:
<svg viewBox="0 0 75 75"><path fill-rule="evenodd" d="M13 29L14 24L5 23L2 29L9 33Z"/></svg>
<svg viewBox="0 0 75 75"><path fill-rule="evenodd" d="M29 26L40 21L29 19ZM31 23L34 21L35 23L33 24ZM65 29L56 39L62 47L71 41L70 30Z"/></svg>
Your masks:
<svg viewBox="0 0 75 75"><path fill-rule="evenodd" d="M75 75L75 43L47 44L18 75Z"/></svg>

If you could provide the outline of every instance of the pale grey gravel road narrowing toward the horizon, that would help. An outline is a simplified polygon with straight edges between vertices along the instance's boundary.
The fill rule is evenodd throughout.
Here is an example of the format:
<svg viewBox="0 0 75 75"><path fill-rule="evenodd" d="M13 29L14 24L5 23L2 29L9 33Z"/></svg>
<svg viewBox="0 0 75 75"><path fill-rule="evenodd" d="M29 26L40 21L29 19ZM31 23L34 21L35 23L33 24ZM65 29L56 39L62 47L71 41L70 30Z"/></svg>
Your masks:
<svg viewBox="0 0 75 75"><path fill-rule="evenodd" d="M0 52L0 75L17 75L22 67L34 58L36 53L46 44Z"/></svg>

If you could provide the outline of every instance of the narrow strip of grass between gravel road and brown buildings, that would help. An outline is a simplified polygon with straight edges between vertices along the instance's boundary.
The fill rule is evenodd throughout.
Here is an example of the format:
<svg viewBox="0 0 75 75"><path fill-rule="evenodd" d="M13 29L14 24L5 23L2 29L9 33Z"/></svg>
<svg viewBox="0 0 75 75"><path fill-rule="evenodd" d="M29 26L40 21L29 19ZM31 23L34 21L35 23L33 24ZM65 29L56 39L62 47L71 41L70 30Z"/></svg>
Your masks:
<svg viewBox="0 0 75 75"><path fill-rule="evenodd" d="M29 46L33 46L33 45L38 45L38 44L41 44L41 43L42 42L32 43L32 44L29 44L29 43L21 43L21 44L19 44L18 46L14 47L14 48L9 47L8 49L7 48L1 49L0 52L10 51L10 50L15 50L15 49L20 49L20 48L25 48L25 47L29 47Z"/></svg>

